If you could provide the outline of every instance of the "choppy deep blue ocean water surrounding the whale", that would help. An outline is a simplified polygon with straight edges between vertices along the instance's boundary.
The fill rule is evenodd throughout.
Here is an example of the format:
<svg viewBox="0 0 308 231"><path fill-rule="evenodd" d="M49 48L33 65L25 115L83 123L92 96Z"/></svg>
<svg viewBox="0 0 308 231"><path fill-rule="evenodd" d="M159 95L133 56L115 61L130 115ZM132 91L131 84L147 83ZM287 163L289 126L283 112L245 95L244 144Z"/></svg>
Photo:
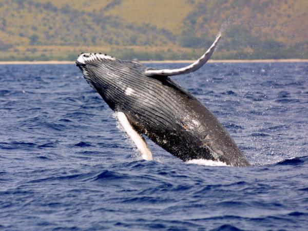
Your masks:
<svg viewBox="0 0 308 231"><path fill-rule="evenodd" d="M182 64L151 64L180 67ZM175 76L252 167L138 152L74 65L0 65L1 230L307 230L307 63Z"/></svg>

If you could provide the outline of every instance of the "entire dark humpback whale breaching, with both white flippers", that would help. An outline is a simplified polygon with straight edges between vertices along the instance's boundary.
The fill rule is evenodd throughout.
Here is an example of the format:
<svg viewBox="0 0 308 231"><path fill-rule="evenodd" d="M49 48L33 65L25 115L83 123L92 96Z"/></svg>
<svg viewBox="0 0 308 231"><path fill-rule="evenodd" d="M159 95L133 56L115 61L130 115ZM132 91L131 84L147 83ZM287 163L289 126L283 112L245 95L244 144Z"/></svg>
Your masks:
<svg viewBox="0 0 308 231"><path fill-rule="evenodd" d="M81 53L76 66L114 111L143 159L152 160L144 139L148 137L183 161L203 159L249 166L215 115L170 77L201 68L220 39L219 34L200 59L179 69L148 68L103 53Z"/></svg>

